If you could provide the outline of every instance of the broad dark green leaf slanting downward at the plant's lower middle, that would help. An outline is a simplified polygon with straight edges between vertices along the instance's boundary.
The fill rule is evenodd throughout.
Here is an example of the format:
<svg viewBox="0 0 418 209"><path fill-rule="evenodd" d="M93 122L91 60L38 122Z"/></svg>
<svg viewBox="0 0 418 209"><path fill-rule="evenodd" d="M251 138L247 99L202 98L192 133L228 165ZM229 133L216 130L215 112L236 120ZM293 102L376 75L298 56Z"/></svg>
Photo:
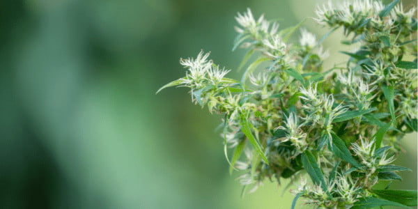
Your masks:
<svg viewBox="0 0 418 209"><path fill-rule="evenodd" d="M316 185L320 185L324 191L327 191L327 185L324 180L322 171L320 170L316 158L308 150L302 154L302 165L309 176L311 176L312 182Z"/></svg>

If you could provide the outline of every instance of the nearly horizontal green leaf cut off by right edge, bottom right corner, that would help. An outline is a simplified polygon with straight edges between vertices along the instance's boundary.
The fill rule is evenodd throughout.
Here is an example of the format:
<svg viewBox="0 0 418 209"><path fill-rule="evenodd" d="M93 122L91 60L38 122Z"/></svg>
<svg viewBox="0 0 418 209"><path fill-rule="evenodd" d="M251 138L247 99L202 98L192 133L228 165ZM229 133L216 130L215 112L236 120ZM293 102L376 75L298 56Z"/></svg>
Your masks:
<svg viewBox="0 0 418 209"><path fill-rule="evenodd" d="M417 190L372 190L382 199L401 203L405 206L417 206Z"/></svg>

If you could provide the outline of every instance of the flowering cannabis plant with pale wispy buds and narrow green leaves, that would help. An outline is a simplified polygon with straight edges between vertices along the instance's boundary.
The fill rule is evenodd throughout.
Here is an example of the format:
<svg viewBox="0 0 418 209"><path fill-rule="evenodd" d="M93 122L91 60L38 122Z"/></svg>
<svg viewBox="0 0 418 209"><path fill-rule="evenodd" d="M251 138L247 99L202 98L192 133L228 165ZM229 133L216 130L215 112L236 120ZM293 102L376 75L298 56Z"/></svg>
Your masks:
<svg viewBox="0 0 418 209"><path fill-rule="evenodd" d="M279 30L247 10L235 17L233 49L248 49L240 68L251 56L254 62L240 81L200 52L180 59L185 77L162 88L190 88L193 102L224 116L230 171L241 170L240 183L251 190L266 178L290 178L300 185L291 191L293 208L298 198L314 208L417 206L417 191L389 188L410 170L392 164L398 141L417 132L415 12L398 0L327 3L314 20L330 31L317 40L300 29L299 42L289 42L303 22ZM357 49L324 69L329 54L321 43L336 29L341 45ZM386 189L373 187L382 181Z"/></svg>

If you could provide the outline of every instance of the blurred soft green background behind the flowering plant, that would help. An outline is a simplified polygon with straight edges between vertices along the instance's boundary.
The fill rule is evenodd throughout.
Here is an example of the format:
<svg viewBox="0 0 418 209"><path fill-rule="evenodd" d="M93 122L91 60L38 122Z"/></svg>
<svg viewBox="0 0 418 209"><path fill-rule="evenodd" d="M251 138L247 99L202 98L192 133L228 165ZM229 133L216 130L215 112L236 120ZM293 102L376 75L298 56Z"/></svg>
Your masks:
<svg viewBox="0 0 418 209"><path fill-rule="evenodd" d="M201 49L237 68L238 11L265 13L283 29L313 17L318 3L0 1L0 208L289 208L286 181L242 199L220 117L192 104L187 89L155 92L185 74L180 57ZM330 49L328 65L347 59L340 50ZM417 189L417 135L402 143L398 164L413 171L394 187Z"/></svg>

